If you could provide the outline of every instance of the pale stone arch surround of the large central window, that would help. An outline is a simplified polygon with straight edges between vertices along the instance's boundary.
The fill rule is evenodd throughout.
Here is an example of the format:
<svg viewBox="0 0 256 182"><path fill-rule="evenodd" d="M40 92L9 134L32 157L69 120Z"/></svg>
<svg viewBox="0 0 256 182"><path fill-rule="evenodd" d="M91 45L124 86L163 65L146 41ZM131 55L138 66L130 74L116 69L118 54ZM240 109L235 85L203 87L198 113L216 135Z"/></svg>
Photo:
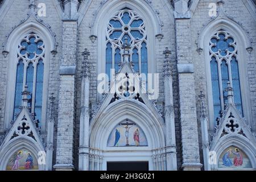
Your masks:
<svg viewBox="0 0 256 182"><path fill-rule="evenodd" d="M105 73L106 60L106 30L110 18L122 9L133 10L142 17L146 27L147 52L148 52L148 73L156 72L155 61L155 39L156 35L162 34L162 27L159 17L154 10L145 1L125 0L125 1L106 1L101 9L97 12L95 19L91 23L91 35L97 37L98 52L97 55L97 73ZM98 96L100 97L100 96Z"/></svg>

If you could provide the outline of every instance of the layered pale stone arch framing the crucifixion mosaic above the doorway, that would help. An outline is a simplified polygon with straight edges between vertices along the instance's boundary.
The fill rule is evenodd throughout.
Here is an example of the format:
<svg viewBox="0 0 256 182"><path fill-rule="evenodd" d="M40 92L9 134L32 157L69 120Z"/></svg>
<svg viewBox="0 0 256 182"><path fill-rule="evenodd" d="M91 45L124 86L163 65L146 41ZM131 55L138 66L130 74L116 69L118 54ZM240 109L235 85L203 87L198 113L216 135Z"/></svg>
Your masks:
<svg viewBox="0 0 256 182"><path fill-rule="evenodd" d="M111 114L110 114L111 113ZM110 104L90 125L90 147L106 150L110 132L119 122L130 119L144 131L148 150L164 147L164 127L141 102L120 99Z"/></svg>

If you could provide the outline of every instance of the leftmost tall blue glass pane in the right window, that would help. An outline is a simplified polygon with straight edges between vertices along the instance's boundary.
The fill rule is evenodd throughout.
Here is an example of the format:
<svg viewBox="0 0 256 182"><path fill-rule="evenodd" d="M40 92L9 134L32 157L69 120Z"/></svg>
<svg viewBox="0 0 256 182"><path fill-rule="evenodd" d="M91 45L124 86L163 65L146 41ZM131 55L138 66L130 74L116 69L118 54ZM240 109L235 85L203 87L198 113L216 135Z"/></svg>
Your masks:
<svg viewBox="0 0 256 182"><path fill-rule="evenodd" d="M221 100L220 100L220 86L218 78L218 63L215 57L210 61L210 73L212 77L212 94L213 94L213 108L214 119L220 117Z"/></svg>

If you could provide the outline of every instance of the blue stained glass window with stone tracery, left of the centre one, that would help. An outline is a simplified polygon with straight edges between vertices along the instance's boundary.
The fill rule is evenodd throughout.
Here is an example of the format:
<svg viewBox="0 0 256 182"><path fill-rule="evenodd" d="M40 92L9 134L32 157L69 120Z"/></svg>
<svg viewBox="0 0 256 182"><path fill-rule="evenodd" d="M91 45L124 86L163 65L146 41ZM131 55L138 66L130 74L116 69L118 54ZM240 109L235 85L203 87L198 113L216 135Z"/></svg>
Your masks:
<svg viewBox="0 0 256 182"><path fill-rule="evenodd" d="M22 91L28 86L31 93L28 96L28 106L35 119L39 122L42 117L43 76L44 76L44 42L38 35L31 32L24 36L18 45L18 64L16 68L15 100L13 119L19 113L22 105Z"/></svg>

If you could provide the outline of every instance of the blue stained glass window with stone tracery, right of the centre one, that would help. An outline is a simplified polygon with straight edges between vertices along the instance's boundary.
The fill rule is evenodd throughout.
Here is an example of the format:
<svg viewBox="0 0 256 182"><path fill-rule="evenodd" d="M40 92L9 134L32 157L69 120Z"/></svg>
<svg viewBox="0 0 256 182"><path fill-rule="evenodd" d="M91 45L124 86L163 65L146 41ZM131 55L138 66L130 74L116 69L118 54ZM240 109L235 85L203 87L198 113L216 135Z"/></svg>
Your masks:
<svg viewBox="0 0 256 182"><path fill-rule="evenodd" d="M210 39L210 75L214 119L220 117L220 111L224 110L227 104L225 88L228 82L230 82L234 89L234 103L243 116L241 83L238 69L238 62L241 60L238 60L237 47L236 38L229 34L228 31L222 29L217 31Z"/></svg>

